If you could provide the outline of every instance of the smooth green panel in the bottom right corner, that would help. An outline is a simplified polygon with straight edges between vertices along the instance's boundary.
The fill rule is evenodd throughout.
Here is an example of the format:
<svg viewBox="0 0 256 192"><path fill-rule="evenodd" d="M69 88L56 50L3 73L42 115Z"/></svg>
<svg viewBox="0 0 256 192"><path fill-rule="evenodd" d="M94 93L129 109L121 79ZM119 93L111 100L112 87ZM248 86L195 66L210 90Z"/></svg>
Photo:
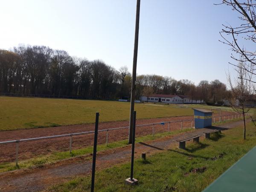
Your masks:
<svg viewBox="0 0 256 192"><path fill-rule="evenodd" d="M245 154L203 192L256 192L256 147Z"/></svg>

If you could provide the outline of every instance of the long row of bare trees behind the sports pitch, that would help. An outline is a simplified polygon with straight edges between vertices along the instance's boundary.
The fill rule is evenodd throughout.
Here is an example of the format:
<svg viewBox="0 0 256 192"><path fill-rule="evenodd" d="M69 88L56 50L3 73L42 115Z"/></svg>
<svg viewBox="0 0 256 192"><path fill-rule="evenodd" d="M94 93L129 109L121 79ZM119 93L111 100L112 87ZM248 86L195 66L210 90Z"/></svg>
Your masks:
<svg viewBox="0 0 256 192"><path fill-rule="evenodd" d="M130 96L131 73L119 70L102 60L70 56L64 50L46 46L20 45L0 49L0 92L87 96L119 99ZM191 99L216 102L229 96L219 80L177 81L159 75L137 75L136 98L145 92L189 95Z"/></svg>

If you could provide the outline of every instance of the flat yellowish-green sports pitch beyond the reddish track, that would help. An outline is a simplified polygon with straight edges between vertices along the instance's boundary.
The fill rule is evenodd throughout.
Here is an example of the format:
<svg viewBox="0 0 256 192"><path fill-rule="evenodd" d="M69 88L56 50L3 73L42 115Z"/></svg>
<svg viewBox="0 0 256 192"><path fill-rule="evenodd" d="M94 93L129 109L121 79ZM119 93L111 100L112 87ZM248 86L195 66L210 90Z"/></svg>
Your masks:
<svg viewBox="0 0 256 192"><path fill-rule="evenodd" d="M0 96L0 130L51 127L129 119L130 103L99 100L44 99ZM192 115L191 108L135 104L138 119Z"/></svg>

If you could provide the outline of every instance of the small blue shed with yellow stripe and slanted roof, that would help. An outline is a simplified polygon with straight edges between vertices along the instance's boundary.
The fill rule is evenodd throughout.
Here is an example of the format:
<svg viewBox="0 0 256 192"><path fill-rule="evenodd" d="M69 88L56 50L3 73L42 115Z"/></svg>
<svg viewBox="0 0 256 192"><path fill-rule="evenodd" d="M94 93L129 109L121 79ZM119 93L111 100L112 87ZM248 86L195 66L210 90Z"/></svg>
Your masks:
<svg viewBox="0 0 256 192"><path fill-rule="evenodd" d="M205 128L212 126L212 111L207 109L193 109L195 117L195 128Z"/></svg>

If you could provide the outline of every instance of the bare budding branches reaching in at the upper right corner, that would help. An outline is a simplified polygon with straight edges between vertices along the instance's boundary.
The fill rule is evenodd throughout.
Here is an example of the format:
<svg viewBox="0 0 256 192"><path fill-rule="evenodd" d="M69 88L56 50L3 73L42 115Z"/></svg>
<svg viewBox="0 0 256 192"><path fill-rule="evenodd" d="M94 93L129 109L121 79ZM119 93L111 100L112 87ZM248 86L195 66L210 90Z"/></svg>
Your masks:
<svg viewBox="0 0 256 192"><path fill-rule="evenodd" d="M256 43L256 2L255 0L222 0L223 5L229 6L233 11L238 13L240 24L238 26L231 26L229 24L223 25L224 29L220 32L224 44L231 47L231 58L239 62L247 62L250 65L256 65L256 50L248 50L244 48L244 44L255 47ZM220 5L218 4L218 5ZM231 38L228 38L231 36ZM242 56L242 57L241 57ZM243 67L230 63L236 67ZM254 73L251 68L243 68L248 73ZM250 79L252 81L252 79ZM254 82L254 81L253 81Z"/></svg>

